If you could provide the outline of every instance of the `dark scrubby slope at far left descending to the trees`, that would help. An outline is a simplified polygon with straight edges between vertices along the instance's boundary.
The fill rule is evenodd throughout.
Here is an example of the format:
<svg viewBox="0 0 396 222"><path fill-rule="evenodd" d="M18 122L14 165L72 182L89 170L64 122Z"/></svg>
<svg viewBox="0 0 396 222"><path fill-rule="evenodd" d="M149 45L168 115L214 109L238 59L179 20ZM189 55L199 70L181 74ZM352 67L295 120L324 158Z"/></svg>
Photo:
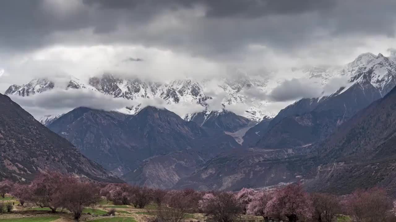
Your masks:
<svg viewBox="0 0 396 222"><path fill-rule="evenodd" d="M3 94L0 94L0 155L0 179L25 181L41 171L57 170L96 181L121 182Z"/></svg>

